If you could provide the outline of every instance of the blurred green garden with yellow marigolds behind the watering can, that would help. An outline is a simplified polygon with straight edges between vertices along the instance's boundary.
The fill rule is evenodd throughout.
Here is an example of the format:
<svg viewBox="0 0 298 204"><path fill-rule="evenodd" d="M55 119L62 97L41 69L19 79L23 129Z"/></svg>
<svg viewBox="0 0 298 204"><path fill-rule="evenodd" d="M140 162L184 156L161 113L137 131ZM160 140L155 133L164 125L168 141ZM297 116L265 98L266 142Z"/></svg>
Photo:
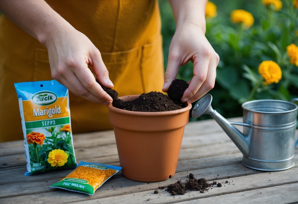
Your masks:
<svg viewBox="0 0 298 204"><path fill-rule="evenodd" d="M168 0L159 4L166 68L176 23ZM298 0L212 0L206 23L206 37L220 57L209 91L217 112L238 117L243 102L298 97ZM192 77L193 63L179 69L178 79Z"/></svg>

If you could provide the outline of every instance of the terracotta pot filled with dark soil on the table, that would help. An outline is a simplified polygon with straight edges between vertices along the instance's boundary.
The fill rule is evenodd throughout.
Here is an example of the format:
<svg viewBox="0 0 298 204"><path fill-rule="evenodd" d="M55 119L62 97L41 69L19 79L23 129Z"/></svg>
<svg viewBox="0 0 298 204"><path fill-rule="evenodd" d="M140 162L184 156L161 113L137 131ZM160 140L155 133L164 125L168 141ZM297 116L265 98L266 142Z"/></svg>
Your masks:
<svg viewBox="0 0 298 204"><path fill-rule="evenodd" d="M120 97L123 101L139 95ZM166 112L134 112L107 105L114 127L122 174L143 182L164 181L175 174L191 103Z"/></svg>

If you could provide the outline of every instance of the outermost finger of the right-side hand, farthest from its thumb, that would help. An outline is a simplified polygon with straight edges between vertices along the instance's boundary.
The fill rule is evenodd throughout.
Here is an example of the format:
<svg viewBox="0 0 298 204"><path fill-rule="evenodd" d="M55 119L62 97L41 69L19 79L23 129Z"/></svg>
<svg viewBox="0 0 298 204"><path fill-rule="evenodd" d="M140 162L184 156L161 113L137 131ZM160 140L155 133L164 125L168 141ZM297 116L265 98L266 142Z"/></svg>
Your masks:
<svg viewBox="0 0 298 204"><path fill-rule="evenodd" d="M216 78L216 67L218 65L218 61L218 56L210 61L206 80L204 81L198 92L196 92L192 97L190 97L187 100L187 103L193 103L194 101L197 101L214 87Z"/></svg>

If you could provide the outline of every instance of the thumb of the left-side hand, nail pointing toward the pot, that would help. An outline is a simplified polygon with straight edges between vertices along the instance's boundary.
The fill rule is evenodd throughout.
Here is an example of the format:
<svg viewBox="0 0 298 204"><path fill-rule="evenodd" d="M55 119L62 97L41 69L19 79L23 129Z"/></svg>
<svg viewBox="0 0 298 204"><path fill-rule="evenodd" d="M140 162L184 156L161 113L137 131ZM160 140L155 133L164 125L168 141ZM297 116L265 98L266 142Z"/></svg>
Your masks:
<svg viewBox="0 0 298 204"><path fill-rule="evenodd" d="M101 58L100 52L96 50L93 54L91 54L90 65L93 67L93 71L95 73L96 78L100 82L101 85L113 88L114 84L109 78L109 72L103 63L103 59Z"/></svg>

